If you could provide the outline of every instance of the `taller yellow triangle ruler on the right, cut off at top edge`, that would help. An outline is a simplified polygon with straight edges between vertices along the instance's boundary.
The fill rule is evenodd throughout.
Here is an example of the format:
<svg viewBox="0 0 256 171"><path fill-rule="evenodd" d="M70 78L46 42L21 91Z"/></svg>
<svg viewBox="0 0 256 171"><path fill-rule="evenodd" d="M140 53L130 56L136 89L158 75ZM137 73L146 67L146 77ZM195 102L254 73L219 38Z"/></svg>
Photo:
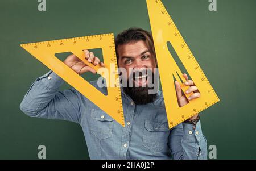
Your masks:
<svg viewBox="0 0 256 171"><path fill-rule="evenodd" d="M220 99L214 92L213 87L210 85L179 30L177 30L174 21L171 19L163 3L160 0L147 0L147 9L154 39L168 124L172 128L200 111L207 109L214 103L217 103ZM200 98L189 101L183 107L179 107L177 103L173 77L180 84L185 82L185 79L171 53L168 51L168 41L174 47L177 56L179 56L180 61L201 94ZM188 86L183 85L181 89L185 92ZM188 96L186 95L186 97Z"/></svg>

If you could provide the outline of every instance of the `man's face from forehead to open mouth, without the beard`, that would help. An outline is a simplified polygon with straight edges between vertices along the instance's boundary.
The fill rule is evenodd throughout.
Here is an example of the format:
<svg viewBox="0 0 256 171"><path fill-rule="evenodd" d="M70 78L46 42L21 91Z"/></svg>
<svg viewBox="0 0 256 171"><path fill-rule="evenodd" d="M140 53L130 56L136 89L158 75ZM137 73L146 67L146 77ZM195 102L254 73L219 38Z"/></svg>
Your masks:
<svg viewBox="0 0 256 171"><path fill-rule="evenodd" d="M133 79L134 84L137 85L136 87L146 87L148 77L145 71L150 69L154 73L154 68L156 67L155 58L146 43L139 40L119 45L117 53L119 56L118 67L126 69L126 79ZM140 75L132 75L136 72L142 72L143 75L141 77L139 77Z"/></svg>

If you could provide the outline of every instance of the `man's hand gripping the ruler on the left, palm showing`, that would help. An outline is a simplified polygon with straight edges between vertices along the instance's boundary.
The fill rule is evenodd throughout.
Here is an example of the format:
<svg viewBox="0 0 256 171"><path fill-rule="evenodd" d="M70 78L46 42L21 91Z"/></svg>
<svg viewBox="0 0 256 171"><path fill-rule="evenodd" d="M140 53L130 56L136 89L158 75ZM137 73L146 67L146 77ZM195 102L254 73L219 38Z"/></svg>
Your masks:
<svg viewBox="0 0 256 171"><path fill-rule="evenodd" d="M92 64L95 66L100 64L100 66L104 67L104 63L101 62L98 57L94 56L93 52L84 50L84 53L85 53L85 57L88 60L88 62L92 62ZM86 65L84 62L82 62L78 57L76 57L73 54L69 55L64 60L64 64L66 64L69 68L73 69L77 74L83 74L88 71L96 74L96 70L94 70L92 67Z"/></svg>

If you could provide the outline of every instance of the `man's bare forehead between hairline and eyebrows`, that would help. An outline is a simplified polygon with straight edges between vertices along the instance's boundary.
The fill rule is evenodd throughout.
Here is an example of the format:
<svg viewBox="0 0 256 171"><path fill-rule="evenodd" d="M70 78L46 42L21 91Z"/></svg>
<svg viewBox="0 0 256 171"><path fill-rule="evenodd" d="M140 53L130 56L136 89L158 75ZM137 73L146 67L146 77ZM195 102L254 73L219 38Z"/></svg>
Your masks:
<svg viewBox="0 0 256 171"><path fill-rule="evenodd" d="M144 51L148 51L147 44L143 40L139 40L136 42L131 42L123 45L118 46L118 55L122 56L130 56L136 57L140 55Z"/></svg>

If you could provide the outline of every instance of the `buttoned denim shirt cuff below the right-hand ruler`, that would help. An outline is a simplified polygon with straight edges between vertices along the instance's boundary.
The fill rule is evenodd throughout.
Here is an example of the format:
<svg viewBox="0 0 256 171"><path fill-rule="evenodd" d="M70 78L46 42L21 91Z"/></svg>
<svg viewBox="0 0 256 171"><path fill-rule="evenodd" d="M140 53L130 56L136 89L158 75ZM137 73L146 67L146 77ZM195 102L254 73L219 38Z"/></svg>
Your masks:
<svg viewBox="0 0 256 171"><path fill-rule="evenodd" d="M193 124L183 122L182 125L185 139L193 140L196 138L199 142L203 138L200 120L197 122L195 130L193 129Z"/></svg>

